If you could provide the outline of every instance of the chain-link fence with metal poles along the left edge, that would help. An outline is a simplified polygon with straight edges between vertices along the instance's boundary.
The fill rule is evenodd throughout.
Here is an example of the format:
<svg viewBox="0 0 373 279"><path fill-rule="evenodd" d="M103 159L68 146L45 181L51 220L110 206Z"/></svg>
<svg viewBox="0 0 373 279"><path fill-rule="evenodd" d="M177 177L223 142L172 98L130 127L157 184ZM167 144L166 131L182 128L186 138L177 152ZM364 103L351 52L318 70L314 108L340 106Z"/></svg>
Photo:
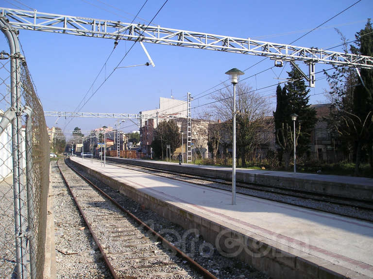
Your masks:
<svg viewBox="0 0 373 279"><path fill-rule="evenodd" d="M43 278L49 137L17 32L0 29L0 278Z"/></svg>

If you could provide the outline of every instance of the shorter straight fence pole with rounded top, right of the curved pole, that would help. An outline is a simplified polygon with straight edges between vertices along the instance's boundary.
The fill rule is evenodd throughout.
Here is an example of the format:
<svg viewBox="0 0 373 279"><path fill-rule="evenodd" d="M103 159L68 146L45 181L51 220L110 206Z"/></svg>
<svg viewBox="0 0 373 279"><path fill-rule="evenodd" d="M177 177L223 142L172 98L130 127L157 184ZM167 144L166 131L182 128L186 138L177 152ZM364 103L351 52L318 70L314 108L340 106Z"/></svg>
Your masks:
<svg viewBox="0 0 373 279"><path fill-rule="evenodd" d="M31 279L36 279L36 241L34 234L34 182L33 182L33 127L32 127L32 114L33 110L25 107L26 113L26 188L27 188L27 217L28 217L28 238L30 250L30 273Z"/></svg>

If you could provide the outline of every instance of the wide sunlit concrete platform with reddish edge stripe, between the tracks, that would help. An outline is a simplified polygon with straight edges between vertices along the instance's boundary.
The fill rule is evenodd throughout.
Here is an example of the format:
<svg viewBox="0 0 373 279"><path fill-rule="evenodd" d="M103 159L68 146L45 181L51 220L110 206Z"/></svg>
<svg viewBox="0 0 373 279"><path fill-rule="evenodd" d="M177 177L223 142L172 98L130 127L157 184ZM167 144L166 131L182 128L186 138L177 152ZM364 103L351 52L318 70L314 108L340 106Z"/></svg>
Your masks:
<svg viewBox="0 0 373 279"><path fill-rule="evenodd" d="M70 159L272 278L373 278L373 223L240 194L231 205L226 191Z"/></svg>

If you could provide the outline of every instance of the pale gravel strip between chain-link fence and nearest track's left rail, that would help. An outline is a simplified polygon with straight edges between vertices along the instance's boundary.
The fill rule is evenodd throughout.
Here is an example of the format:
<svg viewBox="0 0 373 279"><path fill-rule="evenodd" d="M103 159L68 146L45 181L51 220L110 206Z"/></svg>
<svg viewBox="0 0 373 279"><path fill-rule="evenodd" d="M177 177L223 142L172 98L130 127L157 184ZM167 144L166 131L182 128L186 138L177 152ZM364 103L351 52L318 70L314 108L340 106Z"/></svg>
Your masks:
<svg viewBox="0 0 373 279"><path fill-rule="evenodd" d="M57 278L111 278L74 201L51 161Z"/></svg>

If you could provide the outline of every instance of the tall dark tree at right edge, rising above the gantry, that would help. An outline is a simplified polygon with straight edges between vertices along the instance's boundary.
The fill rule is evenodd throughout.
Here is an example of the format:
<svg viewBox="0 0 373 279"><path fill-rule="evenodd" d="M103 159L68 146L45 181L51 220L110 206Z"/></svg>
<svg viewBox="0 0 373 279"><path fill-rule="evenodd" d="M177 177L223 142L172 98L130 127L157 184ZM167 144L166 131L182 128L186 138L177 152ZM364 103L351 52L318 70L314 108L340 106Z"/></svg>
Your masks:
<svg viewBox="0 0 373 279"><path fill-rule="evenodd" d="M339 32L339 31L338 31ZM347 52L345 37L339 32ZM356 46L350 46L354 54L373 56L373 28L368 19L365 28L356 32ZM348 67L334 67L332 75L324 72L331 87L333 111L329 124L334 127L342 142L354 150L355 175L367 150L373 171L373 70L360 69L358 75Z"/></svg>

